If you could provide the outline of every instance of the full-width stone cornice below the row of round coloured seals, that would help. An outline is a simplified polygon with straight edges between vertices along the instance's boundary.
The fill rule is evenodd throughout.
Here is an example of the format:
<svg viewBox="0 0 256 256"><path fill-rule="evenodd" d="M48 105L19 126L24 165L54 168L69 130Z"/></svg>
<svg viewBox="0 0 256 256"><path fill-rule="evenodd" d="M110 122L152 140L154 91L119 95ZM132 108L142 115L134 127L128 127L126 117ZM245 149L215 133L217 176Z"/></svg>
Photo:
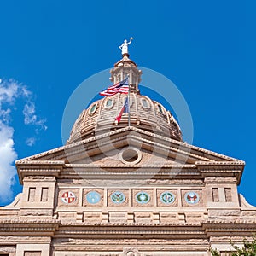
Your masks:
<svg viewBox="0 0 256 256"><path fill-rule="evenodd" d="M160 236L169 238L210 236L252 236L256 232L253 221L205 221L203 223L77 223L59 220L1 220L0 236L54 236L54 237L104 237L125 236L143 237Z"/></svg>

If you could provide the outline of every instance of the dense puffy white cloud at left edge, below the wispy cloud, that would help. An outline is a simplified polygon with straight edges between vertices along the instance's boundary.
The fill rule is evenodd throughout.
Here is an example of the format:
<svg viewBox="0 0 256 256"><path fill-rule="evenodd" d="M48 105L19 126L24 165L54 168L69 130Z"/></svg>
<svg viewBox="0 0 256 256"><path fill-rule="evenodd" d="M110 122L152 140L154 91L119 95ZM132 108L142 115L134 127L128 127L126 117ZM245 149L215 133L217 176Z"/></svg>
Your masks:
<svg viewBox="0 0 256 256"><path fill-rule="evenodd" d="M0 121L0 201L9 201L12 197L11 186L14 183L17 158L13 140L14 129Z"/></svg>

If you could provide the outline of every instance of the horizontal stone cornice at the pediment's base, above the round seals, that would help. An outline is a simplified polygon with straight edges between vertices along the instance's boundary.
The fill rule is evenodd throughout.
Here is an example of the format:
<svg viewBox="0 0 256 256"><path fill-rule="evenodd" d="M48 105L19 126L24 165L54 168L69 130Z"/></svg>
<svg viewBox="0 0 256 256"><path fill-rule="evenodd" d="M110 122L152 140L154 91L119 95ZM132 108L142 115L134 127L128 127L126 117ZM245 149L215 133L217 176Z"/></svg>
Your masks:
<svg viewBox="0 0 256 256"><path fill-rule="evenodd" d="M16 163L20 182L26 176L54 176L73 177L148 177L150 174L161 177L170 175L182 177L209 177L209 176L232 176L240 182L241 172L244 168L241 162L205 162L198 161L195 165L182 164L157 164L157 165L124 165L124 164L65 164L64 161L52 160L22 160ZM155 172L155 170L158 170Z"/></svg>

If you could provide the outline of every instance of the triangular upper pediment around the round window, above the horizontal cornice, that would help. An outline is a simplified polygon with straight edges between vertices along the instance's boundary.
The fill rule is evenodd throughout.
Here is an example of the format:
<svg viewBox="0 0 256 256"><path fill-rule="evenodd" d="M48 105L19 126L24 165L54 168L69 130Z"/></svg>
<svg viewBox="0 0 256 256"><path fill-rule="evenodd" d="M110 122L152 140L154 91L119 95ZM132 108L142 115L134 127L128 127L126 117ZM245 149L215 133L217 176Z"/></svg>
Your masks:
<svg viewBox="0 0 256 256"><path fill-rule="evenodd" d="M167 137L155 135L136 127L125 127L106 134L90 137L81 142L67 144L41 154L35 154L24 161L64 161L69 164L104 165L121 164L119 154L125 148L136 148L143 154L137 165L195 165L196 163L221 164L236 163L244 165L224 154L218 154L207 149L198 148L188 143L179 142Z"/></svg>

